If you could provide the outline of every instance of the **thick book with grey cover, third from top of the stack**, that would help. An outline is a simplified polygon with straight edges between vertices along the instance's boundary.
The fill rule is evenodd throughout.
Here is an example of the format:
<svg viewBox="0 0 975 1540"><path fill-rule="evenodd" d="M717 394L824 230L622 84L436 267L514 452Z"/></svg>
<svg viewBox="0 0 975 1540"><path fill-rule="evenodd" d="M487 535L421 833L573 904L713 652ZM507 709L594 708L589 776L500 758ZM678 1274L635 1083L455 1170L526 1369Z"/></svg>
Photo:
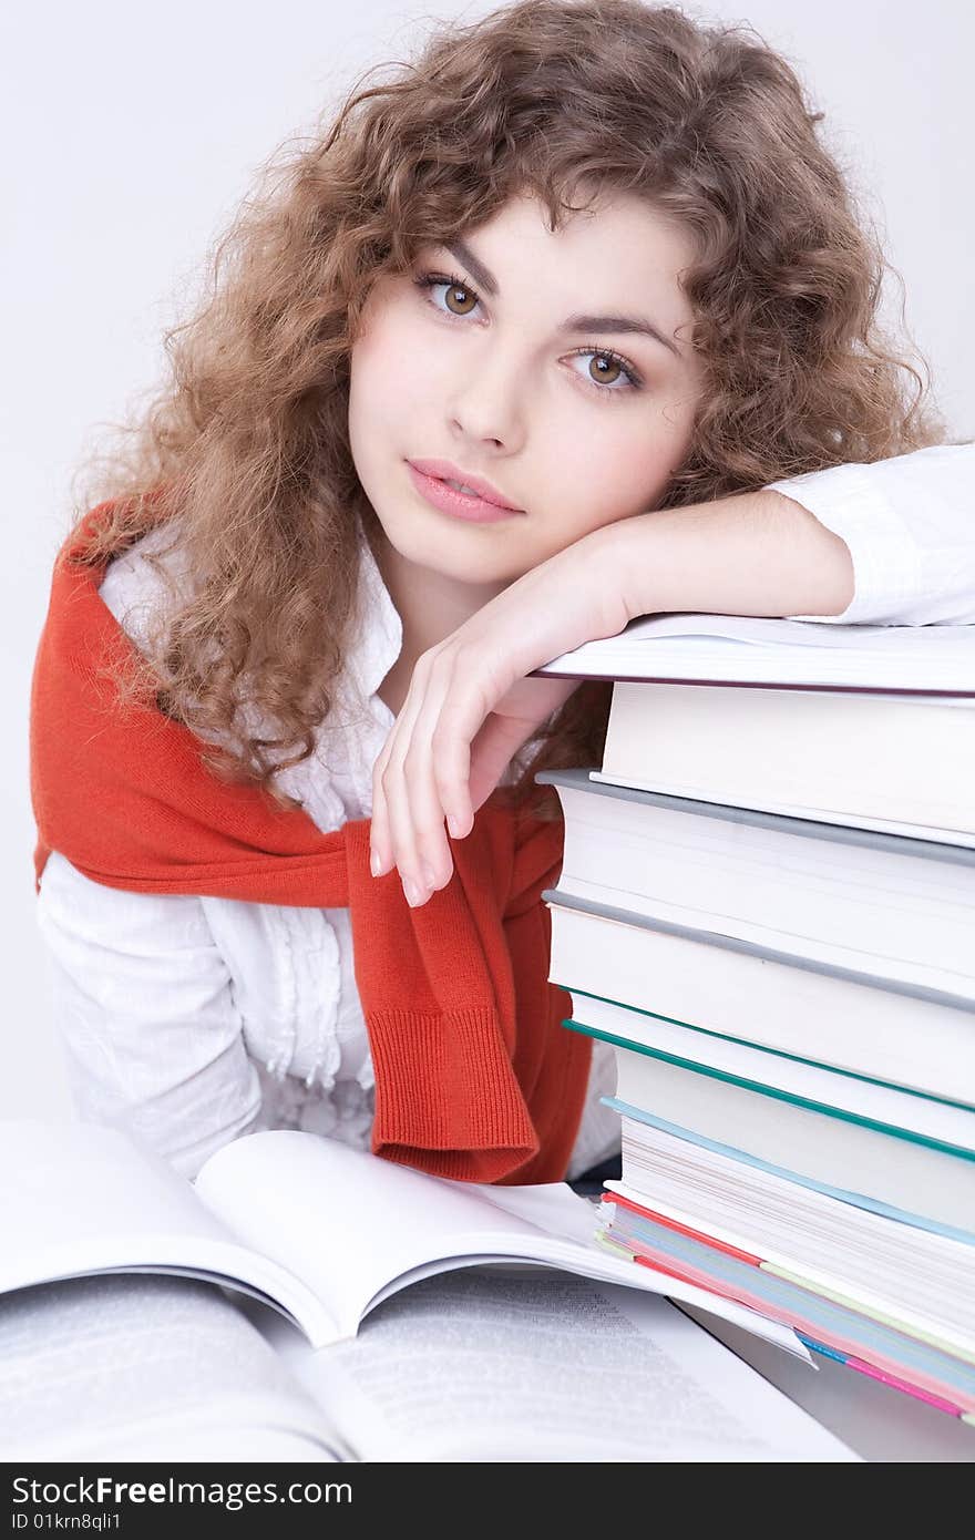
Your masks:
<svg viewBox="0 0 975 1540"><path fill-rule="evenodd" d="M975 850L544 770L565 816L556 889L653 919L975 999Z"/></svg>

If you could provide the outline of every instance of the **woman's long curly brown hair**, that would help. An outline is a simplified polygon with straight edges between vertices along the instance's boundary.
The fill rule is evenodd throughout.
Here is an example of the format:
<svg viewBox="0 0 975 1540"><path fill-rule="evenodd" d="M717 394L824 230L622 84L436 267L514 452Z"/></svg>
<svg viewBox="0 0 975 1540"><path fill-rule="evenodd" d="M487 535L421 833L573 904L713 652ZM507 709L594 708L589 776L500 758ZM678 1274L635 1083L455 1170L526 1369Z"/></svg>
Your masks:
<svg viewBox="0 0 975 1540"><path fill-rule="evenodd" d="M367 531L374 514L348 382L365 300L513 194L538 197L553 231L585 185L692 234L702 391L658 507L944 439L880 333L887 265L823 114L752 29L641 0L518 0L436 23L414 62L385 68L273 157L217 243L205 303L166 333L173 379L123 430L99 491L111 516L79 556L100 564L171 524L193 591L171 585L143 684L217 773L273 793L313 752L357 624L356 514ZM555 713L518 805L539 768L599 762L610 691L588 681Z"/></svg>

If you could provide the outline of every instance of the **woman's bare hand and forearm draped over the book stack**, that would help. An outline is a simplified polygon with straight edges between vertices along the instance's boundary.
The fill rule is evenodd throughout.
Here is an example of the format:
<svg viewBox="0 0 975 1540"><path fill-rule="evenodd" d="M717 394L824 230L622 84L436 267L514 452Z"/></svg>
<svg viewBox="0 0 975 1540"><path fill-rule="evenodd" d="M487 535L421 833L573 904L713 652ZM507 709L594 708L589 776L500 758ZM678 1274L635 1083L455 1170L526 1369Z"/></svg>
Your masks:
<svg viewBox="0 0 975 1540"><path fill-rule="evenodd" d="M376 875L399 867L414 904L450 882L444 819L468 835L513 755L579 687L533 668L638 614L827 616L853 591L846 542L769 488L593 530L417 659L373 770Z"/></svg>

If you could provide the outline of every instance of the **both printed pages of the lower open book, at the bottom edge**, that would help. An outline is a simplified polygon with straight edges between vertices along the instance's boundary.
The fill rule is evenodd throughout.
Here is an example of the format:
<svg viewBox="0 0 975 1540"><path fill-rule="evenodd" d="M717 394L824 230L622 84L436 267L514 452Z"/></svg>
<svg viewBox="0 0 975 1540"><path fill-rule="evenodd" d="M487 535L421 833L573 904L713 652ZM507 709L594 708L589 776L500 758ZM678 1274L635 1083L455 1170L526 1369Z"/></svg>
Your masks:
<svg viewBox="0 0 975 1540"><path fill-rule="evenodd" d="M266 1307L189 1280L17 1291L0 1300L0 1457L855 1458L664 1300L630 1292L454 1274L316 1352Z"/></svg>

